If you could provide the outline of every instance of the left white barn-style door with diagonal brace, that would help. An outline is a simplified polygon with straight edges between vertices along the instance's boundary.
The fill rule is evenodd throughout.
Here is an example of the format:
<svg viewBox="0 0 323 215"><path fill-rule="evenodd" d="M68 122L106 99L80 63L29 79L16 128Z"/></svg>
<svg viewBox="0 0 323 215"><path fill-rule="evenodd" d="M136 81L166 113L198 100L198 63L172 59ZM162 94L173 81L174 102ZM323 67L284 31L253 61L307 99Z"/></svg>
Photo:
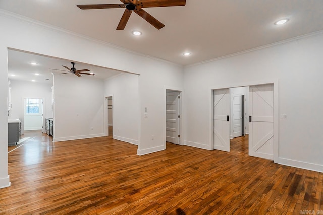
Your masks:
<svg viewBox="0 0 323 215"><path fill-rule="evenodd" d="M214 149L230 152L229 89L214 90Z"/></svg>

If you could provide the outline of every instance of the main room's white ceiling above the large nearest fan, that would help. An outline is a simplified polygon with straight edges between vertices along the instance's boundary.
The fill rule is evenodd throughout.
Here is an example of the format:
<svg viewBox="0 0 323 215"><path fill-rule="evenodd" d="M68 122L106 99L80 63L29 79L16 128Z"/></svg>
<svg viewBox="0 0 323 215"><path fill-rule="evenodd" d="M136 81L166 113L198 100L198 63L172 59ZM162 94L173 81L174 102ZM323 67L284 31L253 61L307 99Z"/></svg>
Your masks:
<svg viewBox="0 0 323 215"><path fill-rule="evenodd" d="M321 0L187 0L186 6L145 8L165 24L160 30L135 13L125 30L116 30L124 9L81 10L76 7L77 4L113 3L121 2L0 0L0 8L183 66L323 29ZM289 22L274 25L281 18L288 18ZM142 35L133 36L133 30L141 31ZM192 54L183 56L186 51ZM59 63L59 68L61 64L63 62ZM68 64L68 61L64 63ZM77 68L83 69L86 65L77 64Z"/></svg>

